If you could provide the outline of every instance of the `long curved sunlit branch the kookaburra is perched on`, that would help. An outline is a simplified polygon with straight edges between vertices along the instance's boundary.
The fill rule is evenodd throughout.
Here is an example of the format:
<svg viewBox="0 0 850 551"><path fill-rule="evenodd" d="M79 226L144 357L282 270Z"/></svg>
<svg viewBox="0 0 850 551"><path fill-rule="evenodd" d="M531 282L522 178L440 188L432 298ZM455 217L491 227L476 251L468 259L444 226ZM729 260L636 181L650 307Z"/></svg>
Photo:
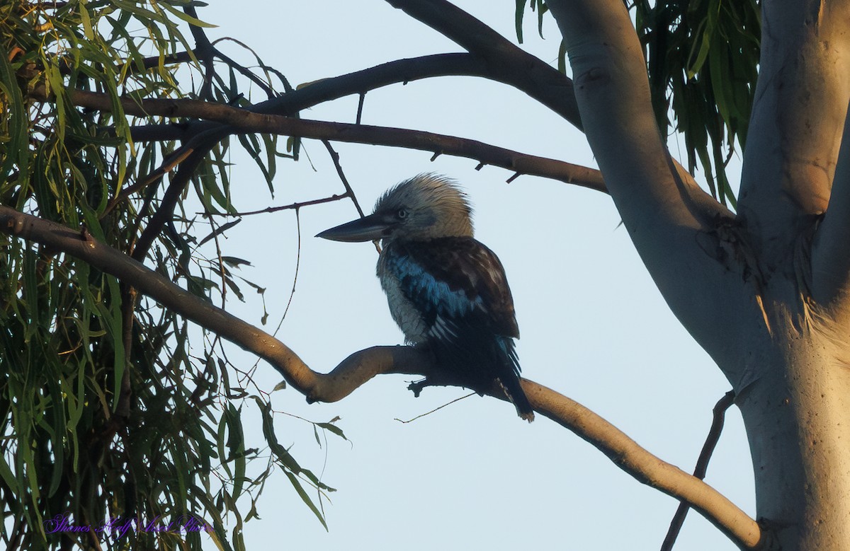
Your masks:
<svg viewBox="0 0 850 551"><path fill-rule="evenodd" d="M0 232L76 256L132 285L162 306L267 360L289 384L307 396L309 402L341 400L377 374L445 376L433 365L427 352L410 346L375 346L355 352L329 374L316 373L280 340L191 295L161 274L99 243L88 232L75 232L6 206L0 206ZM672 464L661 461L614 425L570 398L530 380L523 380L522 385L538 413L590 442L638 481L691 503L741 548L758 548L761 537L759 526L723 494ZM498 388L484 393L505 399L504 392Z"/></svg>

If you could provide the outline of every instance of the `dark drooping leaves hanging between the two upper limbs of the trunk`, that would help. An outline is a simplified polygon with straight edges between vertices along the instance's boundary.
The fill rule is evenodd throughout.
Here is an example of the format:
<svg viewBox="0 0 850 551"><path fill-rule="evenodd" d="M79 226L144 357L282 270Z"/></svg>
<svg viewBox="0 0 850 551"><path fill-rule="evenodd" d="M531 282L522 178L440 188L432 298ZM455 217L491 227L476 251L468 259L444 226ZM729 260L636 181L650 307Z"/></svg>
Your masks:
<svg viewBox="0 0 850 551"><path fill-rule="evenodd" d="M759 3L634 0L626 5L643 43L660 131L681 132L689 171L699 161L711 194L734 207L726 166L746 144L761 44ZM544 0L517 0L520 42L527 8L536 11L541 35L548 10ZM562 45L562 71L565 55Z"/></svg>

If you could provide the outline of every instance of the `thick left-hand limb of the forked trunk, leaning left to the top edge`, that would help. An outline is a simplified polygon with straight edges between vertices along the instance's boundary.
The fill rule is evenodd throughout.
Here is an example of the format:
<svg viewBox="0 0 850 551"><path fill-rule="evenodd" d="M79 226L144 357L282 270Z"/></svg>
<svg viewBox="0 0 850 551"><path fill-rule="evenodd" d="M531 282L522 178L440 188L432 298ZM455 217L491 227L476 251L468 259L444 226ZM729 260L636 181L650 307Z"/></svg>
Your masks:
<svg viewBox="0 0 850 551"><path fill-rule="evenodd" d="M581 120L643 263L691 335L721 365L739 351L731 305L752 307L737 256L724 256L733 215L681 176L661 137L643 51L621 0L547 2L567 44ZM729 333L717 331L728 327ZM725 361L729 359L730 361ZM738 380L739 373L727 373Z"/></svg>

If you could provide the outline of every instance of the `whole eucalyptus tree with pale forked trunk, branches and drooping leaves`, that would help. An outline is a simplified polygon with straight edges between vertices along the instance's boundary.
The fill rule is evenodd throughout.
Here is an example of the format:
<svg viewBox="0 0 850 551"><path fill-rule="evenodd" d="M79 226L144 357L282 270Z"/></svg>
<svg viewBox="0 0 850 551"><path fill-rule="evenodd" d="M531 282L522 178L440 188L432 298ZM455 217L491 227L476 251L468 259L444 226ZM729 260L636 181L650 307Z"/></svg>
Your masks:
<svg viewBox="0 0 850 551"><path fill-rule="evenodd" d="M261 60L249 70L221 52L189 0L0 6L0 229L8 235L0 492L14 519L0 530L8 547L121 546L105 519L197 515L212 520L218 543L239 548L255 510L236 499L257 498L275 465L321 519L305 486L320 495L331 488L278 443L266 394L252 388L252 372L228 364L221 339L256 353L311 402L343 399L383 373L457 382L412 347L355 351L318 373L225 311L228 295L248 284L235 272L244 261L205 257L199 247L236 223L210 215L239 214L231 138L258 160L269 187L278 161L297 160L310 138L331 155L333 141L422 149L610 194L672 311L733 387L757 520L587 408L524 380L536 412L699 511L740 548L850 546L847 8L533 0L563 32L559 71L444 0L388 3L465 51L296 89ZM447 75L523 91L587 134L600 170L300 116L334 98ZM246 83L267 98L249 101ZM683 132L687 168L666 148L671 125ZM725 166L734 149L744 159L738 194ZM705 189L689 172L697 164ZM190 214L190 195L207 216ZM354 200L347 183L345 194L285 208L339 199ZM203 330L193 341L201 353L190 348L189 323ZM474 390L505 397L497 387ZM242 436L249 407L263 419L264 456ZM342 435L332 421L314 427ZM246 476L252 461L267 461L257 478ZM61 522L67 529L51 524ZM200 531L135 530L140 548L180 537L201 543Z"/></svg>

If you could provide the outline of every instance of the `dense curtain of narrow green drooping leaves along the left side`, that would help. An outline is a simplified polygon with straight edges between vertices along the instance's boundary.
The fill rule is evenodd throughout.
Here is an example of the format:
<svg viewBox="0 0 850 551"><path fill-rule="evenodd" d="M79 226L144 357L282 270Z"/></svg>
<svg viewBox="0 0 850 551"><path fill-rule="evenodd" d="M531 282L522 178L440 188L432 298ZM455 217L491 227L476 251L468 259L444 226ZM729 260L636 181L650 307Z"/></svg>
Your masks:
<svg viewBox="0 0 850 551"><path fill-rule="evenodd" d="M241 296L236 270L246 261L205 256L201 245L226 226L194 212L233 211L227 141L211 143L194 170L163 178L157 168L180 144L167 132L134 140L139 127L164 121L128 118L119 101L245 104L246 82L273 93L274 71L253 74L207 41L195 4L0 3L0 204L79 228L221 304L227 290ZM77 108L71 90L108 94L111 109ZM274 138L241 143L269 187L275 160L292 157ZM324 522L314 497L330 488L280 445L269 396L252 391L250 371L217 346L215 335L83 261L0 240L6 547L201 548L212 537L242 548L242 523L257 514L275 467ZM248 409L263 420L256 447L243 436ZM332 424L315 429L341 434Z"/></svg>

